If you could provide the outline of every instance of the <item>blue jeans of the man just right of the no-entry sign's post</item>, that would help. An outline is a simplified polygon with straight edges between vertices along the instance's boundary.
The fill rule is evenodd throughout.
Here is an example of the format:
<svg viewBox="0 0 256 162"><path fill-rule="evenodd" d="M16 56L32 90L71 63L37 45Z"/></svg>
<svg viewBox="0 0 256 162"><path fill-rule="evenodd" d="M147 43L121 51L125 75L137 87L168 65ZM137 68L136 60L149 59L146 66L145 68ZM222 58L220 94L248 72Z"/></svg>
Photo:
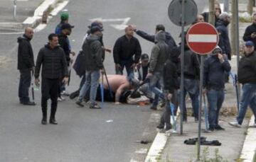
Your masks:
<svg viewBox="0 0 256 162"><path fill-rule="evenodd" d="M209 108L209 127L218 126L218 117L220 108L223 104L224 100L224 91L223 90L213 90L210 89L207 91L207 99L208 99L208 108Z"/></svg>

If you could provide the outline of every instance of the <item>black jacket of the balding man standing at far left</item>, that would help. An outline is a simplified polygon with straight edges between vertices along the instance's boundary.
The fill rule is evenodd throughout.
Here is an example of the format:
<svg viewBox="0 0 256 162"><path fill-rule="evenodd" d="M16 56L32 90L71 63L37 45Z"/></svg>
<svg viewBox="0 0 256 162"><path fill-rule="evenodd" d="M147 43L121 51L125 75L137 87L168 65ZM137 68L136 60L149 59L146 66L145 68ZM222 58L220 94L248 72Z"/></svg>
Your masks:
<svg viewBox="0 0 256 162"><path fill-rule="evenodd" d="M31 46L30 39L23 35L23 37L18 37L18 69L31 69L35 66L33 59L33 49Z"/></svg>

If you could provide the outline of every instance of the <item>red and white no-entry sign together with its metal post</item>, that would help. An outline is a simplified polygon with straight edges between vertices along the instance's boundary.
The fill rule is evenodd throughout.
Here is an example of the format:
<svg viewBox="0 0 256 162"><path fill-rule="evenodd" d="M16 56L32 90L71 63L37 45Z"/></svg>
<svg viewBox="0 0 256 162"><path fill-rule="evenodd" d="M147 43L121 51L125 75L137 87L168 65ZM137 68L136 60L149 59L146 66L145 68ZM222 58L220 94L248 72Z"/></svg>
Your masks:
<svg viewBox="0 0 256 162"><path fill-rule="evenodd" d="M193 52L201 54L197 145L197 160L199 161L201 149L201 112L203 103L203 57L215 49L218 45L219 37L218 31L210 23L196 23L192 25L186 37L188 47Z"/></svg>

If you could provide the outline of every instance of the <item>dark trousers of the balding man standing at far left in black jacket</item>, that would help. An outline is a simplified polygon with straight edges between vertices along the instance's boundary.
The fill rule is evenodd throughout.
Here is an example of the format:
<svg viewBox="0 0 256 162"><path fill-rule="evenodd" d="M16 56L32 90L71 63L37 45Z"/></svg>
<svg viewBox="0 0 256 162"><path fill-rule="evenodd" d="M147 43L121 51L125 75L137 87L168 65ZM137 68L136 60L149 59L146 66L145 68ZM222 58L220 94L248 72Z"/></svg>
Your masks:
<svg viewBox="0 0 256 162"><path fill-rule="evenodd" d="M18 98L21 103L28 103L28 90L31 85L31 69L20 70L21 78L18 85Z"/></svg>

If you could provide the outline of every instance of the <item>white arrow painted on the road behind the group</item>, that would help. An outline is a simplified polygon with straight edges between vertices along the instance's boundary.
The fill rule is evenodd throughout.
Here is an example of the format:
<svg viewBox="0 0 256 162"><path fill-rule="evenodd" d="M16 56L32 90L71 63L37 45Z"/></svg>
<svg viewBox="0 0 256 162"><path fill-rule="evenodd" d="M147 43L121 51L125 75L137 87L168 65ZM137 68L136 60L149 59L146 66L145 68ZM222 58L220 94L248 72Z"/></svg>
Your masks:
<svg viewBox="0 0 256 162"><path fill-rule="evenodd" d="M117 30L124 30L124 28L127 28L127 23L129 22L131 18L92 18L89 19L90 21L102 21L102 22L116 22L116 21L122 21L121 24L110 24L113 28L116 28Z"/></svg>

